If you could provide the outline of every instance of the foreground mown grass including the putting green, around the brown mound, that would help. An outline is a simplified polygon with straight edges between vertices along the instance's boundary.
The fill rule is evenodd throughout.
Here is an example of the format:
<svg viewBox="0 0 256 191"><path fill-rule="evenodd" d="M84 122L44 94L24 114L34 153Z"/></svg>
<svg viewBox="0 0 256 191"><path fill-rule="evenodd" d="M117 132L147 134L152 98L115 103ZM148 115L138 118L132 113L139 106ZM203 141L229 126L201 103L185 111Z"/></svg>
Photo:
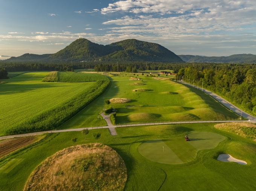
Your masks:
<svg viewBox="0 0 256 191"><path fill-rule="evenodd" d="M53 133L42 142L0 160L1 190L21 191L30 174L47 157L67 147L102 143L122 157L130 190L248 190L256 189L256 143L214 127L214 123L136 126ZM95 139L94 133L101 133ZM190 141L185 141L188 135ZM72 141L77 138L76 142ZM246 161L218 161L227 153ZM28 165L29 164L29 165Z"/></svg>

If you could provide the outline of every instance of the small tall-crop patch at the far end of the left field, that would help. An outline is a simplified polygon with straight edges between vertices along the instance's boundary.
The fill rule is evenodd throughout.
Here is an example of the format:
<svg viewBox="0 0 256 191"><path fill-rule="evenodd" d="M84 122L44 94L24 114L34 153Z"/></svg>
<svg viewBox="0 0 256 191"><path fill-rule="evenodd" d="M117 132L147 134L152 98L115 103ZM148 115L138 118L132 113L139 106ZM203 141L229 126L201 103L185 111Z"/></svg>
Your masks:
<svg viewBox="0 0 256 191"><path fill-rule="evenodd" d="M102 74L78 73L78 72L58 72L58 82L86 82L107 80Z"/></svg>

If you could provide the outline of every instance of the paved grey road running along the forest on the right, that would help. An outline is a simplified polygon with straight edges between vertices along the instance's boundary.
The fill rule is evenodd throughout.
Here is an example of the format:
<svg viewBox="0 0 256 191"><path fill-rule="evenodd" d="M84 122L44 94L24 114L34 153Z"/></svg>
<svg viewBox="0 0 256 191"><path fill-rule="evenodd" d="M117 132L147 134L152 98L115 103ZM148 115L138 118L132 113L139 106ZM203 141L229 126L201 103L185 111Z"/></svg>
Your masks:
<svg viewBox="0 0 256 191"><path fill-rule="evenodd" d="M241 116L242 114L242 117L245 117L246 119L248 120L251 120L253 122L256 122L256 117L246 113L245 111L242 111L241 109L239 109L238 107L236 107L235 105L231 104L230 102L228 102L226 99L224 98L221 98L221 96L218 96L217 94L209 91L209 90L206 90L206 89L202 89L200 87L197 87L197 86L193 86L192 84L189 84L189 83L186 83L186 82L182 82L182 81L179 81L179 83L182 83L182 84L186 84L188 86L191 86L191 87L194 87L194 88L197 88L197 89L200 89L202 90L203 92L207 93L208 95L210 95L213 99L215 99L216 101L220 102L222 105L224 105L225 107L227 107L228 109L232 110L233 112L235 112L236 114L238 114L239 116Z"/></svg>

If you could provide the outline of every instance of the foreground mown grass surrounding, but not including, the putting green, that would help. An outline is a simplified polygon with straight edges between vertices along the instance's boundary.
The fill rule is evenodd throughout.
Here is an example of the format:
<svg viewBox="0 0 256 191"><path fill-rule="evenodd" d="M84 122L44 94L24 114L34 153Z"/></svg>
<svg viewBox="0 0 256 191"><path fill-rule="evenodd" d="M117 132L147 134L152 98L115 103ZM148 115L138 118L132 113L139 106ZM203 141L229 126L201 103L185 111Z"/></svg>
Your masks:
<svg viewBox="0 0 256 191"><path fill-rule="evenodd" d="M256 143L219 131L213 126L183 124L118 128L117 136L111 136L108 129L95 129L90 130L86 141L81 132L52 134L43 142L0 161L1 189L22 190L35 167L58 150L76 144L98 142L113 147L125 161L128 170L127 191L158 190L161 185L160 190L255 190ZM138 152L139 145L145 140L180 137L191 131L215 132L227 138L216 148L201 150L195 160L180 165L151 162ZM93 132L101 132L101 138L95 140ZM76 143L71 140L73 137L78 138ZM245 160L248 164L217 161L218 153L223 152Z"/></svg>

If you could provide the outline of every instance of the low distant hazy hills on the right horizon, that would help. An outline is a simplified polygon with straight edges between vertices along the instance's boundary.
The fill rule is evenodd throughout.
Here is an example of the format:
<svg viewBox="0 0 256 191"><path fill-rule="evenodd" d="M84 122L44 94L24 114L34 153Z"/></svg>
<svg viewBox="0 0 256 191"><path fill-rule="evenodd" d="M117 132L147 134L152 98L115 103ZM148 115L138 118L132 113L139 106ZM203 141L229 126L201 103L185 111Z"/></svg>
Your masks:
<svg viewBox="0 0 256 191"><path fill-rule="evenodd" d="M254 54L233 54L231 56L194 56L178 55L184 62L215 62L215 63L256 63Z"/></svg>

